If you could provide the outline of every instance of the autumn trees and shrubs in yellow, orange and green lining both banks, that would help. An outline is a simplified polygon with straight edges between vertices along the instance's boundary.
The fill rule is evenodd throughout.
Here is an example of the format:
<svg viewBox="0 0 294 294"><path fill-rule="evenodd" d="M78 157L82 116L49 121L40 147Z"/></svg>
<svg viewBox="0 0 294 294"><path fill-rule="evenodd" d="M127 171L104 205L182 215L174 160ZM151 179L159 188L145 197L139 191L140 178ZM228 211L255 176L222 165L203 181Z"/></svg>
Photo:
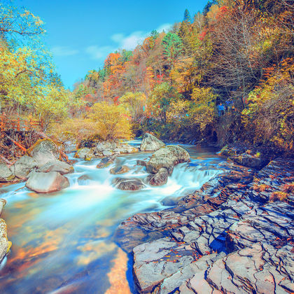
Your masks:
<svg viewBox="0 0 294 294"><path fill-rule="evenodd" d="M60 141L153 132L293 151L292 2L214 0L201 13L186 10L169 31L153 30L134 50L110 52L73 91L41 43L43 22L1 4L1 113L38 120L39 131Z"/></svg>

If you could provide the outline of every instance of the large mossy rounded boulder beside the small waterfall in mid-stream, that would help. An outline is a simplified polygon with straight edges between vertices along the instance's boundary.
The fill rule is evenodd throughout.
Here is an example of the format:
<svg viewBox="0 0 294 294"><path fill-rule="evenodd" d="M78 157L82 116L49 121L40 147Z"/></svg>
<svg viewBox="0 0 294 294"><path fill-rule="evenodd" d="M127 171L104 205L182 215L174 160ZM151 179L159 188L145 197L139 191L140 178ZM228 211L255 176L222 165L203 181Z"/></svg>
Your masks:
<svg viewBox="0 0 294 294"><path fill-rule="evenodd" d="M165 168L169 174L172 174L175 165L189 161L190 155L185 149L169 145L153 153L151 159L146 163L146 171L149 174L156 174L160 169Z"/></svg>

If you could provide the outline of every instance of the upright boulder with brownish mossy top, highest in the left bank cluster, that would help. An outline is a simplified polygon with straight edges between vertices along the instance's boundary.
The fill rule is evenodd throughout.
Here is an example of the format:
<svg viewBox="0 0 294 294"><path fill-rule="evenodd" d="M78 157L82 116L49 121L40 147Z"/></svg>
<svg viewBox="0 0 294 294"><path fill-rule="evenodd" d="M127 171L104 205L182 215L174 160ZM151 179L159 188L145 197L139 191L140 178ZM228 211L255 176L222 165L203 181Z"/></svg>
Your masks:
<svg viewBox="0 0 294 294"><path fill-rule="evenodd" d="M38 167L45 165L49 161L59 159L57 146L50 139L36 141L36 144L29 148L28 153L32 158L34 158Z"/></svg>

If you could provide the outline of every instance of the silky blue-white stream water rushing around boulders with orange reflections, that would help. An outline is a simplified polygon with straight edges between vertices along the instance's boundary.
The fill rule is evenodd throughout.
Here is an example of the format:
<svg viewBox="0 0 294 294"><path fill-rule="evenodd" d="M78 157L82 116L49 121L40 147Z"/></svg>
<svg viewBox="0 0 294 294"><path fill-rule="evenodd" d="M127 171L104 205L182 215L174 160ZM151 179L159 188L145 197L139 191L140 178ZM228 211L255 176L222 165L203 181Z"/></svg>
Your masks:
<svg viewBox="0 0 294 294"><path fill-rule="evenodd" d="M79 160L66 175L71 186L58 193L32 193L25 183L1 188L7 200L1 218L13 246L0 265L0 293L134 293L131 260L113 241L117 226L133 214L167 208L221 171L214 150L183 148L191 162L177 165L161 187L130 192L111 184L115 165L130 167L120 177L146 178L136 163L152 153L135 153L105 169L96 168L99 160Z"/></svg>

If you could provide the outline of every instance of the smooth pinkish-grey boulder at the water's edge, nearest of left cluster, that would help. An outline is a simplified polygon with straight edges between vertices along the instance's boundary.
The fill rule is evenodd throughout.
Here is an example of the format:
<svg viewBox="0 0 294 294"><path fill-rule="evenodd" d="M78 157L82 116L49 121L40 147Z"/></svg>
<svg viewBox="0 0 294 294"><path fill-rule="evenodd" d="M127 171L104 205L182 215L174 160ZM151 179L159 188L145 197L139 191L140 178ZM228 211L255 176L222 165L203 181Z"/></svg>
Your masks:
<svg viewBox="0 0 294 294"><path fill-rule="evenodd" d="M31 172L25 186L37 193L51 193L69 187L69 179L59 172Z"/></svg>

